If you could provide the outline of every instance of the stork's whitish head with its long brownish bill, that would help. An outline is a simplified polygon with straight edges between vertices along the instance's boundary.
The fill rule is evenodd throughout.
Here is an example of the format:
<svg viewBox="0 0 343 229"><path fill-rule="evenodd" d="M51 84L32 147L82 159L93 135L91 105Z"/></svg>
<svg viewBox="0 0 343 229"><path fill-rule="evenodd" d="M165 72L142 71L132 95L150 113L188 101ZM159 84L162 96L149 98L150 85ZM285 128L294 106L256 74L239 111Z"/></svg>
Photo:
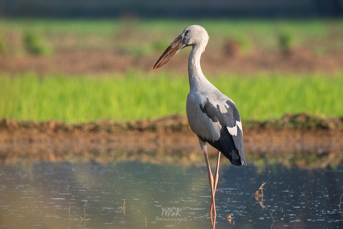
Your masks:
<svg viewBox="0 0 343 229"><path fill-rule="evenodd" d="M209 41L209 35L200 25L187 26L184 31L168 46L164 53L159 57L153 69L159 68L173 58L182 48L186 46L200 47L201 52Z"/></svg>

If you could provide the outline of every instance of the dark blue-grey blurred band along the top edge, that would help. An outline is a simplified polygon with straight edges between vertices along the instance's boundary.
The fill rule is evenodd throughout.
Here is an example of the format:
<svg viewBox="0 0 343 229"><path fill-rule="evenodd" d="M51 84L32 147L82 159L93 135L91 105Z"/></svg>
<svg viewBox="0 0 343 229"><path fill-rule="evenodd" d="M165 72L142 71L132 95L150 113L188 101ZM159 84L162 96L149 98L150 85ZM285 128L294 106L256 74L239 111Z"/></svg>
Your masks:
<svg viewBox="0 0 343 229"><path fill-rule="evenodd" d="M214 0L208 1L157 1L157 0L1 0L4 16L33 16L58 18L99 18L134 16L144 18L221 18L221 17L318 17L342 16L341 0Z"/></svg>

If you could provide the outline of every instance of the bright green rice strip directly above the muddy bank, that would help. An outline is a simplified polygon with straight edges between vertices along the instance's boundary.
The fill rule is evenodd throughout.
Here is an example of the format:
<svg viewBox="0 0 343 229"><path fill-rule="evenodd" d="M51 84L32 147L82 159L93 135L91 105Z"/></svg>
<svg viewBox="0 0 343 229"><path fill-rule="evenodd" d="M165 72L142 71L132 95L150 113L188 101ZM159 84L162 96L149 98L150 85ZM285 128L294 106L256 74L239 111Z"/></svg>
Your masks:
<svg viewBox="0 0 343 229"><path fill-rule="evenodd" d="M343 76L232 75L209 79L233 99L243 120L264 121L286 113L343 116ZM18 120L127 121L186 114L188 76L102 77L33 73L0 77L0 117Z"/></svg>

